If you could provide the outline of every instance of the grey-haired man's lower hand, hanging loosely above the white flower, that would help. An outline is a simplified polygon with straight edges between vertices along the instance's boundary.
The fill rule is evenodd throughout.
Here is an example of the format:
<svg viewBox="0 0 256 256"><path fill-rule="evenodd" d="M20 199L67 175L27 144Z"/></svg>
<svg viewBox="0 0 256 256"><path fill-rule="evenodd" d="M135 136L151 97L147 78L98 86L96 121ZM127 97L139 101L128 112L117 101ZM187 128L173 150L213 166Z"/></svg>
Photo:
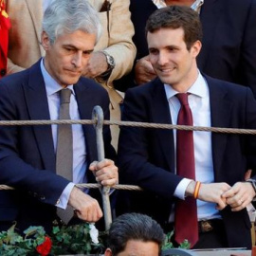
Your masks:
<svg viewBox="0 0 256 256"><path fill-rule="evenodd" d="M68 204L87 222L97 222L103 215L98 201L76 187L70 193Z"/></svg>

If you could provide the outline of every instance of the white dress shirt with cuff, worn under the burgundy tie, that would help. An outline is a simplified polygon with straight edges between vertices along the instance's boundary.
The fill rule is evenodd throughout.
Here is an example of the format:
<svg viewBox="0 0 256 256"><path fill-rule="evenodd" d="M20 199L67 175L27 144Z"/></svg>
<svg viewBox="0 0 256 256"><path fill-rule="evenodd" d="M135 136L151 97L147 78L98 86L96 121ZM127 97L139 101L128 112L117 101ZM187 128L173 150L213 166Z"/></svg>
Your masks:
<svg viewBox="0 0 256 256"><path fill-rule="evenodd" d="M169 84L164 84L167 100L173 124L177 123L177 116L180 109L180 102L175 97L178 93ZM209 87L203 76L198 71L198 77L188 90L189 104L192 110L193 126L210 127L210 95ZM212 152L211 152L211 133L193 132L194 160L195 160L195 180L202 183L214 182ZM176 130L174 130L174 149L176 148ZM176 150L174 150L176 152ZM176 164L175 164L176 171ZM184 178L178 184L174 195L180 199L185 198L185 191L190 179ZM199 220L218 218L218 210L215 204L197 200L197 216Z"/></svg>

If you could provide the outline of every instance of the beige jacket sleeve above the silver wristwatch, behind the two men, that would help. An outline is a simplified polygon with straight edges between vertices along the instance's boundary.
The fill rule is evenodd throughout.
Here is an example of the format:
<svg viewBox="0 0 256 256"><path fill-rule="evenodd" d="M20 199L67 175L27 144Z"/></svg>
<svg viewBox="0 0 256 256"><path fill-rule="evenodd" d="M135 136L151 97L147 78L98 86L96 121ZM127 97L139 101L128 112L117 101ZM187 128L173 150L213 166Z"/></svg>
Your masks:
<svg viewBox="0 0 256 256"><path fill-rule="evenodd" d="M129 0L113 0L109 18L107 18L107 13L100 12L103 34L96 49L101 50L103 48L113 56L116 62L116 66L112 70L108 83L127 74L131 71L134 64L136 46L132 40L134 26L131 21L129 5ZM107 46L103 46L106 42Z"/></svg>

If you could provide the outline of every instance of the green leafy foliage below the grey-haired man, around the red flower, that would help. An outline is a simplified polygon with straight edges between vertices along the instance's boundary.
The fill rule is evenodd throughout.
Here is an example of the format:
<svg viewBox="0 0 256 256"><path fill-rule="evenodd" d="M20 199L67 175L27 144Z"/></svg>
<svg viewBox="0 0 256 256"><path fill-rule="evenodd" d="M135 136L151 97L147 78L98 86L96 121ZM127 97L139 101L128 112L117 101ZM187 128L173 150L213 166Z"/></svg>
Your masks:
<svg viewBox="0 0 256 256"><path fill-rule="evenodd" d="M92 243L89 224L85 223L70 227L54 227L49 238L52 242L50 253L53 255L97 254L103 251L101 237L99 237L99 244ZM22 236L15 231L15 225L13 225L8 231L0 232L0 255L39 255L37 247L42 245L45 239L46 231L43 227L29 227Z"/></svg>

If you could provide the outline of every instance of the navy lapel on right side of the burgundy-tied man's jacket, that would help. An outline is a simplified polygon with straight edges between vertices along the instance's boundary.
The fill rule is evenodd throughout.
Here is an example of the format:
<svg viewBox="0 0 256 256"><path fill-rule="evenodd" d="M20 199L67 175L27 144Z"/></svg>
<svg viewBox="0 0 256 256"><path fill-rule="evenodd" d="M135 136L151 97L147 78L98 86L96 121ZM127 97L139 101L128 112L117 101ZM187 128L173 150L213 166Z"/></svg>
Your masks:
<svg viewBox="0 0 256 256"><path fill-rule="evenodd" d="M229 127L229 117L231 111L231 104L226 99L227 91L225 86L222 86L220 82L206 77L210 88L210 118L212 127ZM220 133L211 134L212 143L212 160L213 170L216 178L216 174L219 173L222 162L224 159L224 153L227 144L227 135Z"/></svg>

